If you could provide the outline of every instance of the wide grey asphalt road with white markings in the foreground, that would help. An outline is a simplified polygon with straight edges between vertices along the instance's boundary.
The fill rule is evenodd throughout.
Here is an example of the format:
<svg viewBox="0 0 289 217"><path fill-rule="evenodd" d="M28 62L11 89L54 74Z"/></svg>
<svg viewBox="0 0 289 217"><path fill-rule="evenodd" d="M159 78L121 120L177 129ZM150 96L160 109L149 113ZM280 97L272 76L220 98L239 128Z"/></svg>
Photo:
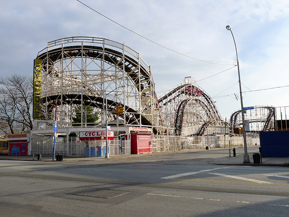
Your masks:
<svg viewBox="0 0 289 217"><path fill-rule="evenodd" d="M0 216L287 217L289 169L208 164L225 154L1 160Z"/></svg>

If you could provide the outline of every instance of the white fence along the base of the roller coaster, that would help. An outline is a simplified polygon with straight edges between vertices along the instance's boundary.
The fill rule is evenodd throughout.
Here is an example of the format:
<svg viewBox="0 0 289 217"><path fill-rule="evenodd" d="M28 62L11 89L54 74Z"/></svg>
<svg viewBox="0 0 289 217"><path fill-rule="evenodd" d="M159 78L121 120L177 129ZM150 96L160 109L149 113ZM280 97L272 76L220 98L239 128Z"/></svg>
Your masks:
<svg viewBox="0 0 289 217"><path fill-rule="evenodd" d="M129 138L129 137L128 137ZM260 140L255 136L247 137L248 145L260 145ZM160 136L153 135L151 140L152 152L180 151L191 149L210 148L228 148L233 146L242 146L243 137L226 135L211 136ZM109 154L129 155L131 154L131 140L108 140ZM42 154L43 156L52 156L53 139L31 139L31 155ZM106 140L76 141L76 138L57 138L55 142L55 154L63 154L71 157L95 157L104 156L106 153Z"/></svg>

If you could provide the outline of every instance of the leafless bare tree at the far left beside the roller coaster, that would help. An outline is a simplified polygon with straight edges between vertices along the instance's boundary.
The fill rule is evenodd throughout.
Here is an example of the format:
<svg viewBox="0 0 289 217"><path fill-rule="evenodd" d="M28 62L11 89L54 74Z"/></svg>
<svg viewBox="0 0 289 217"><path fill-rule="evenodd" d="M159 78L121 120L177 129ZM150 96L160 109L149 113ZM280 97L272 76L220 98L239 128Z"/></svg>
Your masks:
<svg viewBox="0 0 289 217"><path fill-rule="evenodd" d="M0 132L26 133L33 128L30 116L32 106L32 78L12 75L0 78Z"/></svg>

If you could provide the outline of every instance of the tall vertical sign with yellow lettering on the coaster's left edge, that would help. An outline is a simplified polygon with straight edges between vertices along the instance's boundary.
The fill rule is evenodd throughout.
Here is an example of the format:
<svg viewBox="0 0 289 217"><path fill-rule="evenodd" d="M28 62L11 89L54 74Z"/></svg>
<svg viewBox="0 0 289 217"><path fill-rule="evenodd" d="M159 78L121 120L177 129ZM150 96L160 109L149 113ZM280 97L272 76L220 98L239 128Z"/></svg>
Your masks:
<svg viewBox="0 0 289 217"><path fill-rule="evenodd" d="M40 119L41 59L34 59L33 119Z"/></svg>

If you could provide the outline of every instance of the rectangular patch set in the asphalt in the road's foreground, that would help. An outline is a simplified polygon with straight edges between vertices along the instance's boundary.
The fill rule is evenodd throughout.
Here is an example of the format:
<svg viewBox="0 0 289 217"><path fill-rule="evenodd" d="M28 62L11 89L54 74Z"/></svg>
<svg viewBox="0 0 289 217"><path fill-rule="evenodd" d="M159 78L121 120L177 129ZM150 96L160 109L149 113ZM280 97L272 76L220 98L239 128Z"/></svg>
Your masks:
<svg viewBox="0 0 289 217"><path fill-rule="evenodd" d="M116 198L119 196L129 194L129 193L131 192L114 190L114 189L99 189L99 188L93 188L93 187L85 187L82 189L77 189L77 190L67 192L66 194L93 197L93 198L111 199L111 198Z"/></svg>

